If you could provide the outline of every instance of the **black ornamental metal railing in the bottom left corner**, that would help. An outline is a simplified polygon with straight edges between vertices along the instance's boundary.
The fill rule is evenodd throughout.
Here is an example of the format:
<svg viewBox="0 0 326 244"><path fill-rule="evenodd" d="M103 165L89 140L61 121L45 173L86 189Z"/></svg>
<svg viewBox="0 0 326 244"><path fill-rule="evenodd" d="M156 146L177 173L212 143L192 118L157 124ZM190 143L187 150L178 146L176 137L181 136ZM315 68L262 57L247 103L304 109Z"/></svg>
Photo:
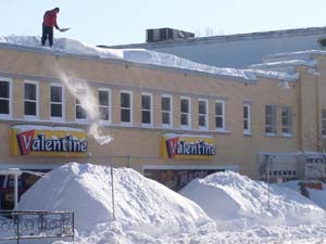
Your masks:
<svg viewBox="0 0 326 244"><path fill-rule="evenodd" d="M0 211L0 241L74 235L72 211Z"/></svg>

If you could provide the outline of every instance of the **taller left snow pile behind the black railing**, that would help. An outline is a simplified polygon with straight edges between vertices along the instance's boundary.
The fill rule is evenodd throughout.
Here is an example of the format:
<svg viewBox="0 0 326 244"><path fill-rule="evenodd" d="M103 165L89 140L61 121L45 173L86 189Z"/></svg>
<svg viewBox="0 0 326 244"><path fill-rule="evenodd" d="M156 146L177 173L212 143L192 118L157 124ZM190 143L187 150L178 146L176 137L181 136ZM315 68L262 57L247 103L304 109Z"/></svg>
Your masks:
<svg viewBox="0 0 326 244"><path fill-rule="evenodd" d="M110 167L71 163L38 180L21 198L20 210L73 210L79 233L113 221ZM215 229L193 202L129 168L114 171L117 232L151 237ZM112 226L111 226L112 227ZM116 234L116 233L115 233ZM106 239L108 240L108 239Z"/></svg>

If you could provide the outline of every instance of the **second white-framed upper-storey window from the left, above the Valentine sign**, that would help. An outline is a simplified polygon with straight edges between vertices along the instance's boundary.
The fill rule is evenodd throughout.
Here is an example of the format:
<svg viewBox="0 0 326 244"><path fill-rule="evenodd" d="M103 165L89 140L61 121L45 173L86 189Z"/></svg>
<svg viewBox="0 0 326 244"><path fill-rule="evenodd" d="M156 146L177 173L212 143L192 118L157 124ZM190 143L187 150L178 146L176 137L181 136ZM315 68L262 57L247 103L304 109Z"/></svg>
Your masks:
<svg viewBox="0 0 326 244"><path fill-rule="evenodd" d="M37 82L24 82L24 114L25 116L38 116L38 87Z"/></svg>

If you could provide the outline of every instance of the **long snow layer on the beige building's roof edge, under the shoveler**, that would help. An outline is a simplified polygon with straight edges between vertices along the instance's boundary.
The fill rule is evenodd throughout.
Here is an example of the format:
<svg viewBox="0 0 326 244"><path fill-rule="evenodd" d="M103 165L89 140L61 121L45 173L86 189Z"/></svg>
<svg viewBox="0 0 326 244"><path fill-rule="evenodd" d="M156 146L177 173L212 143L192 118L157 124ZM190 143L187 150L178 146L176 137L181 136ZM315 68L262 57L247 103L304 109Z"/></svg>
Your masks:
<svg viewBox="0 0 326 244"><path fill-rule="evenodd" d="M216 76L228 77L228 78L240 78L244 80L256 80L256 76L285 79L285 80L297 80L298 77L292 74L285 72L264 72L264 70L251 70L251 69L235 69L235 68L221 68L210 66L205 64L196 63L179 56L150 51L146 49L103 49L96 46L83 43L77 40L67 38L58 38L54 41L53 48L40 47L40 37L21 37L21 36L9 36L0 37L0 43L4 44L16 44L30 48L38 48L43 51L54 51L59 53L70 53L77 55L89 55L100 59L114 59L124 60L133 63L159 65L173 68L183 68L196 72L208 73Z"/></svg>

